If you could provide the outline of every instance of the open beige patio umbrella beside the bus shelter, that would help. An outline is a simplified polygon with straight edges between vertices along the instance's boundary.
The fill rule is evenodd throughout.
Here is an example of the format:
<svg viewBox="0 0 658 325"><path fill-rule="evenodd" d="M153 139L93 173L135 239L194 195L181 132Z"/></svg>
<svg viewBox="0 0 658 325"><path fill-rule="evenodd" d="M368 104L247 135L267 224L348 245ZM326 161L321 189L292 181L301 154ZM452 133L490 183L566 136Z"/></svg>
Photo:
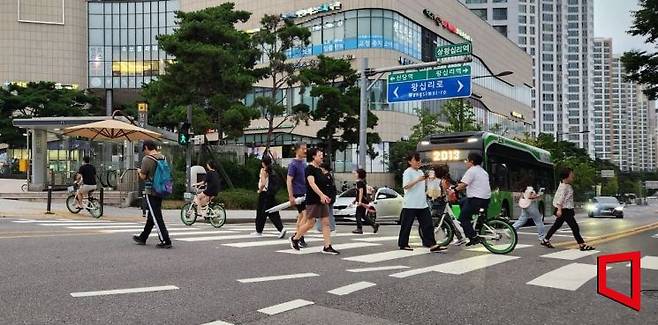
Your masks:
<svg viewBox="0 0 658 325"><path fill-rule="evenodd" d="M90 140L157 140L160 134L123 121L108 119L64 129L64 135Z"/></svg>

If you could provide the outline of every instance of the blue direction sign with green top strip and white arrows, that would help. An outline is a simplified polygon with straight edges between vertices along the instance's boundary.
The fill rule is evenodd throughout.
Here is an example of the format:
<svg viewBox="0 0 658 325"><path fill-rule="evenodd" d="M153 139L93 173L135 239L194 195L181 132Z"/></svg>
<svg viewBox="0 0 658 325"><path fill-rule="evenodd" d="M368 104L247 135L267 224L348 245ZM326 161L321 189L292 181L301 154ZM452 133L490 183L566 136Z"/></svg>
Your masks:
<svg viewBox="0 0 658 325"><path fill-rule="evenodd" d="M471 96L471 69L459 67L408 73L388 77L388 103L439 100Z"/></svg>

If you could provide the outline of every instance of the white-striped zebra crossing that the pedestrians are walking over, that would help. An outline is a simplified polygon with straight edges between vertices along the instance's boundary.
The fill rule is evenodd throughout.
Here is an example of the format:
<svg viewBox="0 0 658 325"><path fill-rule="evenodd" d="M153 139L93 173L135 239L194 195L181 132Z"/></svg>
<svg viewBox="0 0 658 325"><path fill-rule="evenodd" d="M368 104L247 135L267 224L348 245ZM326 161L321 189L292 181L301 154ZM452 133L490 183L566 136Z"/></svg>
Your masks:
<svg viewBox="0 0 658 325"><path fill-rule="evenodd" d="M31 220L20 219L13 220L12 222L19 224L38 225L50 229L67 229L71 231L95 231L99 235L127 235L137 234L141 232L144 227L143 222L114 222L108 220L70 220L70 219L57 219L57 220ZM294 225L286 225L286 229L294 229ZM262 236L254 236L251 233L254 231L253 225L225 225L220 229L215 229L208 224L198 223L191 227L182 224L169 224L169 234L174 242L181 243L205 243L217 242L219 245L231 249L253 249L253 248L271 248L273 252L286 254L286 255L311 255L320 254L322 251L322 235L319 233L309 233L306 237L306 242L311 245L308 248L296 251L289 248L289 241L287 238L290 233L284 238L279 239L279 232L276 229L268 226L265 228ZM154 232L151 236L157 236ZM658 234L654 237L657 237ZM531 237L526 237L526 239ZM426 248L416 248L413 251L398 250L396 247L397 236L381 235L365 233L363 235L355 235L352 233L337 233L332 235L333 247L341 252L341 255L336 257L340 258L346 263L351 263L350 268L346 271L350 273L363 273L363 272L388 272L388 276L398 279L412 278L428 273L442 273L451 275L465 275L470 272L484 270L488 268L495 268L500 264L519 263L519 269L522 270L522 263L528 261L530 258L542 258L548 260L565 261L566 265L560 266L556 269L547 270L546 273L530 279L526 282L527 285L535 287L544 287L557 290L576 291L583 285L592 281L597 276L597 268L595 263L591 263L592 258L599 251L586 251L582 252L577 249L571 250L550 250L545 254L536 256L523 256L524 249L531 248L537 244L531 245L527 243L519 243L514 252L508 255L494 255L490 254L484 247L474 248L453 248L449 253L442 255L450 255L450 251L467 250L473 253L481 253L475 256L462 256L459 254L459 259L439 259L441 263L422 266L422 267L409 267L404 264L417 265L417 263L410 262L412 258L426 258L424 256L431 254ZM412 236L412 245L420 246L419 238ZM534 239L534 238L533 238ZM533 241L530 241L534 243ZM317 243L317 244L314 244ZM590 257L586 260L587 257ZM333 258L333 257L331 257ZM429 259L428 259L429 260ZM430 260L433 263L433 260ZM587 261L589 263L584 263ZM530 261L528 261L530 262ZM385 263L394 263L396 265L384 265ZM527 263L527 262L526 262ZM361 265L363 267L358 267ZM645 256L642 258L641 266L645 270L658 271L658 257ZM617 268L625 267L624 265L615 266ZM313 275L315 276L315 275ZM242 283L252 282L267 282L267 281L281 281L287 279L300 278L299 274L291 275L268 275L265 277L240 279ZM338 288L337 292L352 292L354 288L358 290L365 290L370 287L370 284L360 283L355 287ZM355 290L356 291L356 290Z"/></svg>

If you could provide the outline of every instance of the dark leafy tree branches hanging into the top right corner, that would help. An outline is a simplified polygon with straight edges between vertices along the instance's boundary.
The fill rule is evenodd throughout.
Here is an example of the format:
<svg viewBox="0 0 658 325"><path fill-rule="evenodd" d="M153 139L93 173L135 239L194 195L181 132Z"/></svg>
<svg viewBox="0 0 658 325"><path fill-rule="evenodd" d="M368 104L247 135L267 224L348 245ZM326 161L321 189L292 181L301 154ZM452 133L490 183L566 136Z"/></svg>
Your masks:
<svg viewBox="0 0 658 325"><path fill-rule="evenodd" d="M645 43L658 46L658 0L639 0L640 10L633 12L633 36L645 37ZM627 79L644 85L649 99L658 99L658 52L629 51L621 57Z"/></svg>

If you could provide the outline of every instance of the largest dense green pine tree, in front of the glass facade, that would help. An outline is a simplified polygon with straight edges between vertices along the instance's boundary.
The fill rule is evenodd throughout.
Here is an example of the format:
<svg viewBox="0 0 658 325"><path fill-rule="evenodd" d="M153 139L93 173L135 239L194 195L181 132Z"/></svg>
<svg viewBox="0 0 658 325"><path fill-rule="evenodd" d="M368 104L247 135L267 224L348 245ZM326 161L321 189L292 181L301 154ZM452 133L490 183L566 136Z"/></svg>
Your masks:
<svg viewBox="0 0 658 325"><path fill-rule="evenodd" d="M235 137L258 117L243 100L261 72L254 69L260 53L249 34L235 28L251 14L224 3L195 12L178 12L178 28L158 37L159 45L176 59L165 74L143 88L154 124L176 127L192 106L193 128L215 128Z"/></svg>

